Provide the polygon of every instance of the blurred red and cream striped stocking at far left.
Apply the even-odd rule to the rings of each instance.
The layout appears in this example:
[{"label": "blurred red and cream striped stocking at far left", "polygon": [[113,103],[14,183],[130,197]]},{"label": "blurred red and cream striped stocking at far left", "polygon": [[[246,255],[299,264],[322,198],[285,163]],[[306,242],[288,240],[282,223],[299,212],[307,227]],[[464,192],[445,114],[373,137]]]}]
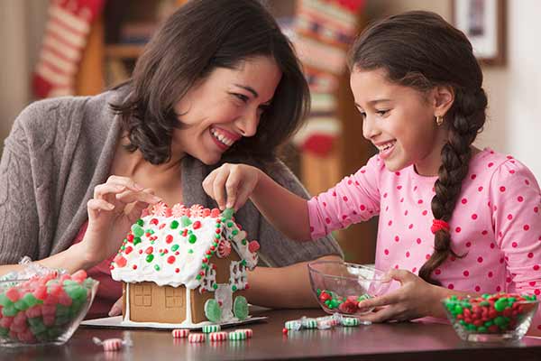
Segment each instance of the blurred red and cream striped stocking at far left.
[{"label": "blurred red and cream striped stocking at far left", "polygon": [[50,0],[49,19],[32,80],[37,97],[74,94],[90,24],[104,4],[105,0]]}]

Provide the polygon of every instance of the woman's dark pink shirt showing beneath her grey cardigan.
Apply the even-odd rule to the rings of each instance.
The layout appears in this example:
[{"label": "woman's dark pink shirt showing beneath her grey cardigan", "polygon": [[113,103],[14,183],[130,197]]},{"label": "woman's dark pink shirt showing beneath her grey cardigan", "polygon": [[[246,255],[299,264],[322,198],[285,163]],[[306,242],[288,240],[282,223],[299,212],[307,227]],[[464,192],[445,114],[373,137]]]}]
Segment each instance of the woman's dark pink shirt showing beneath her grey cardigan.
[{"label": "woman's dark pink shirt showing beneath her grey cardigan", "polygon": [[[75,236],[73,244],[79,243],[83,240],[85,232],[87,232],[88,222],[83,223],[78,235]],[[92,307],[88,310],[87,319],[98,319],[107,317],[107,313],[115,304],[115,301],[122,296],[122,283],[116,282],[111,278],[111,270],[109,265],[113,261],[115,255],[106,259],[100,264],[96,264],[94,267],[87,270],[88,277],[92,277],[96,281],[99,281],[99,287],[97,288],[96,297],[92,303]]]}]

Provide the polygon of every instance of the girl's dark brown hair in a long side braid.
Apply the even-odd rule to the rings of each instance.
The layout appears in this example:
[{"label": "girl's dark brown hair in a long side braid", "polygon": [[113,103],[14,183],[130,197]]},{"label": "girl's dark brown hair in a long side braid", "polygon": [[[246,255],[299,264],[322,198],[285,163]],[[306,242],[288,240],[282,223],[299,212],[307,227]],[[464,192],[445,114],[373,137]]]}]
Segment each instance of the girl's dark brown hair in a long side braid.
[{"label": "girl's dark brown hair in a long side braid", "polygon": [[[472,44],[441,16],[408,12],[390,16],[362,32],[353,44],[349,66],[384,69],[391,82],[423,93],[436,86],[454,89],[454,103],[444,116],[449,133],[432,199],[434,218],[448,222],[468,173],[471,144],[486,116],[487,97],[481,88],[482,72]],[[434,253],[419,270],[419,276],[439,285],[432,272],[449,255],[458,257],[451,248],[451,235],[439,230],[434,238]]]}]

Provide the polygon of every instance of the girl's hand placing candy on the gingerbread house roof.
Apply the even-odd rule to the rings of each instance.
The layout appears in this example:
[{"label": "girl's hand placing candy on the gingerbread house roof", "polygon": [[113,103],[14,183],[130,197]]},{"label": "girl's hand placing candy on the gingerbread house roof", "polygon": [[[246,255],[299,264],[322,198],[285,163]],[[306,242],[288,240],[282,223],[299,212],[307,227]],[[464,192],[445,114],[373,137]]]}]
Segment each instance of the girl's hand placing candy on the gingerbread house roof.
[{"label": "girl's hand placing candy on the gingerbread house roof", "polygon": [[206,194],[218,203],[221,210],[243,207],[260,180],[261,171],[246,164],[225,163],[203,180]]}]

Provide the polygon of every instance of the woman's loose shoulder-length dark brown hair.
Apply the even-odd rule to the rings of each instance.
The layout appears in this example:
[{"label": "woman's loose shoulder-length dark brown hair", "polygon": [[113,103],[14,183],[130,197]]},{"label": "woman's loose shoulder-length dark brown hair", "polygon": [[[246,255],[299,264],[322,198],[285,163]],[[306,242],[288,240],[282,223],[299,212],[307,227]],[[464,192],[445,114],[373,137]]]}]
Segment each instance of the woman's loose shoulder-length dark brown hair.
[{"label": "woman's loose shoulder-length dark brown hair", "polygon": [[309,92],[291,43],[256,0],[191,0],[161,25],[137,60],[129,97],[111,105],[122,116],[127,149],[152,164],[170,160],[172,133],[183,126],[173,109],[179,99],[214,69],[236,69],[257,56],[274,59],[282,78],[257,134],[225,155],[274,159],[306,115]]}]

